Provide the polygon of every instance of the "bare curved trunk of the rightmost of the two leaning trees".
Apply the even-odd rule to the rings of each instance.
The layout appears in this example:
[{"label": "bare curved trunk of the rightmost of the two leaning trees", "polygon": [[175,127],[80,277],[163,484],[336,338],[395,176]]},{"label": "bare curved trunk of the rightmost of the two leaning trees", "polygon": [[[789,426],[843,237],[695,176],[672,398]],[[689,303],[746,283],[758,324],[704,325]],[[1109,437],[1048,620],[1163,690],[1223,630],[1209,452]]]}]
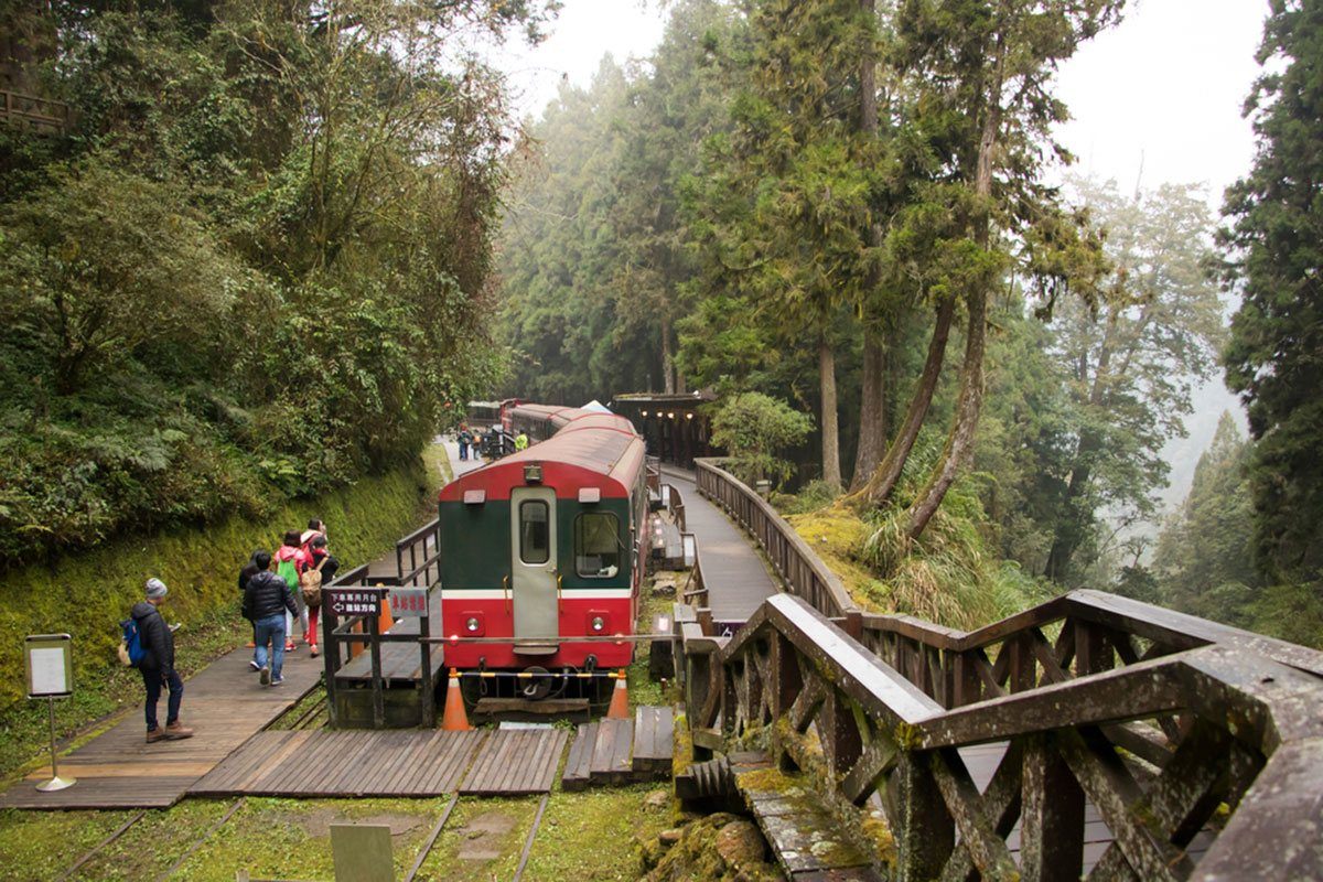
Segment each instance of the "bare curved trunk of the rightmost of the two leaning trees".
[{"label": "bare curved trunk of the rightmost of the two leaning trees", "polygon": [[[983,106],[983,132],[979,136],[979,156],[974,176],[974,192],[986,202],[992,196],[992,155],[996,151],[998,131],[1002,127],[1002,83],[1005,60],[1002,38],[996,42],[995,73],[987,103]],[[980,205],[975,220],[974,241],[987,251],[991,241],[992,218],[986,205]],[[955,405],[955,423],[946,442],[942,459],[927,480],[927,485],[910,506],[909,536],[917,540],[927,522],[933,520],[937,508],[946,499],[955,476],[974,456],[974,432],[979,427],[979,413],[983,409],[983,354],[987,349],[987,311],[991,282],[978,279],[968,296],[970,325],[964,341],[964,365],[960,368],[960,397]]]}]

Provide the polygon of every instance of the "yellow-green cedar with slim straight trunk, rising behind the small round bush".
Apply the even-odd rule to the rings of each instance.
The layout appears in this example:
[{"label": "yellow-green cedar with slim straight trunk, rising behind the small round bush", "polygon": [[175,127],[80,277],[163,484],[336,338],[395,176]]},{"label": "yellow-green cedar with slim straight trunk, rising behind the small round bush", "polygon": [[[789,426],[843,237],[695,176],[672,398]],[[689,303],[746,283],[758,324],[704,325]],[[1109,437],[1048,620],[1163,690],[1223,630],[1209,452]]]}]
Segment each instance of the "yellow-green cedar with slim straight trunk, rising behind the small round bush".
[{"label": "yellow-green cedar with slim straight trunk, rising behind the small round bush", "polygon": [[823,479],[841,483],[836,350],[830,329],[856,305],[868,243],[876,139],[859,114],[859,0],[766,0],[747,7],[751,52],[733,107],[734,132],[716,139],[708,185],[709,245],[790,344],[818,348]]}]

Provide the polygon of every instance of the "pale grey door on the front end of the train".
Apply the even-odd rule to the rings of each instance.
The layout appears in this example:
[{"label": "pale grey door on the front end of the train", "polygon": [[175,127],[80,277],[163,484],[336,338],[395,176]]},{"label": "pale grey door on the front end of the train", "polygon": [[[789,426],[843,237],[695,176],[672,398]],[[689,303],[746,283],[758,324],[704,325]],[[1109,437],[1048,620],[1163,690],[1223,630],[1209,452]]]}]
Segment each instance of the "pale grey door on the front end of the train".
[{"label": "pale grey door on the front end of the train", "polygon": [[556,491],[549,487],[519,487],[511,491],[509,501],[515,651],[524,655],[536,655],[537,651],[553,653],[560,624]]}]

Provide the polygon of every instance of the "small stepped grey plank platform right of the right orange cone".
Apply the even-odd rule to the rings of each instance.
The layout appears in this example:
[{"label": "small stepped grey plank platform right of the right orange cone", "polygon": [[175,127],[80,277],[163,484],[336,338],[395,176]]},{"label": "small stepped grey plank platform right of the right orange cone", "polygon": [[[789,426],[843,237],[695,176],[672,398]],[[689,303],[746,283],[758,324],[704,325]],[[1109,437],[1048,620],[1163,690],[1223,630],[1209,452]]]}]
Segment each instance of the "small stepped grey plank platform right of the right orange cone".
[{"label": "small stepped grey plank platform right of the right orange cone", "polygon": [[669,707],[636,707],[634,719],[583,723],[570,744],[561,789],[664,780],[671,776],[675,714]]}]

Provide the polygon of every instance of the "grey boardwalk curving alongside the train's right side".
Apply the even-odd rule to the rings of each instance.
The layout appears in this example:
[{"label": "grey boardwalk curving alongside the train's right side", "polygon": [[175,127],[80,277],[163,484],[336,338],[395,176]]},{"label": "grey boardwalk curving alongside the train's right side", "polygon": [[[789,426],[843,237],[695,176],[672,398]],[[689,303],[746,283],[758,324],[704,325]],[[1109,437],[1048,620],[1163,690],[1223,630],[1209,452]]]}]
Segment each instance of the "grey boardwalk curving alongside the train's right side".
[{"label": "grey boardwalk curving alongside the train's right side", "polygon": [[685,526],[699,540],[706,606],[712,608],[713,620],[745,621],[765,599],[781,590],[777,579],[744,530],[699,495],[693,472],[663,464],[662,476],[684,497]]}]

